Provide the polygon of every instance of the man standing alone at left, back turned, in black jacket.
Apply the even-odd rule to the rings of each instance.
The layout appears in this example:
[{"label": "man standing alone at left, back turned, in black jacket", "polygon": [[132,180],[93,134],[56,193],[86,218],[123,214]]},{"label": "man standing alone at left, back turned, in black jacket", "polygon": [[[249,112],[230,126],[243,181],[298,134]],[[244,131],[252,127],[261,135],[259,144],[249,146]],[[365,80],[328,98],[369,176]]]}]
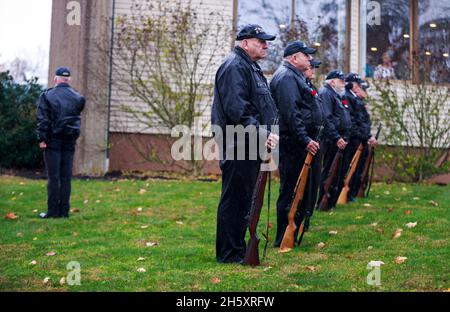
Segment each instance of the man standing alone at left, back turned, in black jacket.
[{"label": "man standing alone at left, back turned, in black jacket", "polygon": [[43,92],[37,104],[37,136],[48,176],[48,212],[39,215],[44,219],[69,217],[72,163],[85,105],[69,81],[70,70],[58,68],[55,87]]}]

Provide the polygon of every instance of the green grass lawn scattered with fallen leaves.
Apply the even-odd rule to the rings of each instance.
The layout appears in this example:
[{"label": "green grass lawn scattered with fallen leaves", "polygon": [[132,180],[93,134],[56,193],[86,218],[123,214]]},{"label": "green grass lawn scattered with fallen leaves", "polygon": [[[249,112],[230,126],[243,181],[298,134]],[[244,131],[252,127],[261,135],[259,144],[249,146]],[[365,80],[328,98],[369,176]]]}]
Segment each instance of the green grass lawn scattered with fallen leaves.
[{"label": "green grass lawn scattered with fallen leaves", "polygon": [[[338,206],[331,213],[315,212],[300,249],[279,254],[271,242],[267,257],[255,268],[215,261],[220,188],[219,182],[75,180],[72,208],[79,212],[69,219],[40,220],[34,210],[46,211],[46,181],[2,176],[0,291],[450,288],[449,187],[375,184],[369,199]],[[273,189],[275,225],[277,183]],[[6,219],[9,212],[18,218]],[[260,232],[266,214],[264,207]],[[406,227],[409,222],[417,226]],[[401,236],[393,239],[399,228]],[[150,247],[147,242],[158,244]],[[325,247],[319,248],[320,242]],[[263,246],[261,240],[261,254]],[[56,254],[47,256],[49,252]],[[398,256],[407,259],[397,264]],[[35,265],[30,264],[33,260]],[[381,286],[366,282],[372,260],[384,262]],[[70,261],[80,263],[80,286],[59,283],[69,273]],[[138,272],[139,268],[146,271]],[[44,284],[46,277],[50,281]]]}]

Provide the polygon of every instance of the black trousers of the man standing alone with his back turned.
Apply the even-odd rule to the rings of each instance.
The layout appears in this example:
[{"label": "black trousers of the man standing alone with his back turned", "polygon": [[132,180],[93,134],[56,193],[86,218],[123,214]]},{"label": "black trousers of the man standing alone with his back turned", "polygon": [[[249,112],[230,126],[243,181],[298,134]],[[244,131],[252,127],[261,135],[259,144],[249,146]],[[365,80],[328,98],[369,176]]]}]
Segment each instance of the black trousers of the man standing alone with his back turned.
[{"label": "black trousers of the man standing alone with his back turned", "polygon": [[68,217],[75,141],[52,139],[44,151],[47,168],[47,215]]}]

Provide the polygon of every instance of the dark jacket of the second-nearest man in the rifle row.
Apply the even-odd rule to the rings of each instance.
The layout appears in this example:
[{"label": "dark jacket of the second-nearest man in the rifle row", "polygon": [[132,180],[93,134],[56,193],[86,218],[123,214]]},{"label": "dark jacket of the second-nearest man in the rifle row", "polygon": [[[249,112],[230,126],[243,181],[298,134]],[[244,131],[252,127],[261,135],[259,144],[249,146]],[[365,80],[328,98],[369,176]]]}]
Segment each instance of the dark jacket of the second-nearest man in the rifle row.
[{"label": "dark jacket of the second-nearest man in the rifle row", "polygon": [[317,90],[289,62],[275,72],[270,89],[280,114],[280,135],[305,148],[316,139],[317,129],[322,125],[323,111]]}]

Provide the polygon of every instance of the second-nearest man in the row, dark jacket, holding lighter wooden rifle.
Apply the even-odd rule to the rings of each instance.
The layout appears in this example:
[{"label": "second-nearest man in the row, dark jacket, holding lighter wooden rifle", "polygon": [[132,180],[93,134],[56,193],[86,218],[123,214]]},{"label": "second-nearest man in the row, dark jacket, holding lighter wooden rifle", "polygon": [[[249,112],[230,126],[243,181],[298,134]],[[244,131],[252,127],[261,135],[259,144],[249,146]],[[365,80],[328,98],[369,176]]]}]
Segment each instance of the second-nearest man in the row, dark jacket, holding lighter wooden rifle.
[{"label": "second-nearest man in the row, dark jacket, holding lighter wooden rifle", "polygon": [[[284,50],[284,63],[275,72],[270,83],[279,112],[280,126],[280,195],[277,201],[277,234],[275,247],[279,247],[288,224],[288,213],[298,176],[308,152],[319,153],[316,141],[318,128],[322,124],[322,110],[315,91],[305,77],[313,71],[310,61],[316,49],[300,41],[290,42]],[[312,213],[317,197],[320,160],[312,163],[313,181],[308,181],[305,196],[298,207],[298,226],[307,211]],[[307,190],[311,189],[312,192]],[[311,208],[311,209],[309,209]]]}]

